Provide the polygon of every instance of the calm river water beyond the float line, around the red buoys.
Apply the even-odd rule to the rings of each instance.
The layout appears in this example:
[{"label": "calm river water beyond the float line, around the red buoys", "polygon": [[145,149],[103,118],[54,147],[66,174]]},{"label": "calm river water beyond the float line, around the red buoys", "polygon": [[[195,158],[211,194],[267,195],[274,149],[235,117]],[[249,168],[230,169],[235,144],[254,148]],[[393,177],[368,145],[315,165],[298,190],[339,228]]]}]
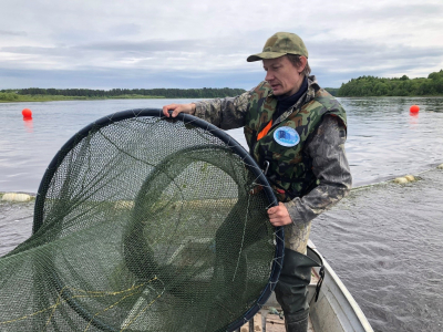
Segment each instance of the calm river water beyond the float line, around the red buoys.
[{"label": "calm river water beyond the float line, around the red buoys", "polygon": [[[59,148],[105,115],[190,100],[105,100],[0,104],[0,191],[37,193]],[[353,185],[418,173],[443,159],[442,97],[340,98],[348,114],[347,155]],[[409,107],[421,111],[410,115]],[[24,122],[22,108],[33,112]],[[229,131],[246,147],[243,129]]]}]

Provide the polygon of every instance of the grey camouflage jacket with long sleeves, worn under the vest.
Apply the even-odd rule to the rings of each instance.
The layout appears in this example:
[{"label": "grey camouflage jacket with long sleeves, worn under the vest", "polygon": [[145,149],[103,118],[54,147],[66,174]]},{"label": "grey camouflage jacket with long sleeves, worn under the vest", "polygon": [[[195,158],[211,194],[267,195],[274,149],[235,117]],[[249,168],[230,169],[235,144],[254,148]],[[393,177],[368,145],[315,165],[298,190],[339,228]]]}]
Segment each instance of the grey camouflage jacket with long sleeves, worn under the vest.
[{"label": "grey camouflage jacket with long sleeves, worn under the vest", "polygon": [[[223,129],[243,127],[247,125],[248,105],[254,98],[255,90],[236,97],[197,102],[195,115]],[[272,127],[287,120],[293,110],[312,102],[319,90],[315,76],[310,76],[307,92],[296,105],[277,118]],[[311,158],[312,173],[318,185],[302,197],[295,197],[289,201],[284,199],[295,224],[309,222],[350,190],[351,175],[344,154],[344,142],[346,125],[338,117],[332,116],[324,116],[313,135],[307,137],[303,151]],[[271,176],[272,174],[268,174],[268,177]]]}]

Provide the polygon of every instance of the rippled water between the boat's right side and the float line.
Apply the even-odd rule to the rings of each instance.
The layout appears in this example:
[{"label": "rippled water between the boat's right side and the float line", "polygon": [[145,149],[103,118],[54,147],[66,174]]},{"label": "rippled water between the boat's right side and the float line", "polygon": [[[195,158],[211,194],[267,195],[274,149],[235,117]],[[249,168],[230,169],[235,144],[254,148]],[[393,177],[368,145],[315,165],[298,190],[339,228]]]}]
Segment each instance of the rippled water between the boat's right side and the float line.
[{"label": "rippled water between the boat's right side and the float line", "polygon": [[356,190],[313,220],[312,240],[375,331],[442,331],[443,172],[421,177]]}]

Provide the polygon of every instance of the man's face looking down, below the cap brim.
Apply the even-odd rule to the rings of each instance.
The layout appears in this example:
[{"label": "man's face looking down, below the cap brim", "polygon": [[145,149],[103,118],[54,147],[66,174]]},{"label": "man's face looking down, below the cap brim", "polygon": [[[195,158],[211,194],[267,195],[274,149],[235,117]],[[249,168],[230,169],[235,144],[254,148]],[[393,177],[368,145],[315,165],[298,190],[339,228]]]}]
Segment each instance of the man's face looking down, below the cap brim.
[{"label": "man's face looking down, below the cap brim", "polygon": [[297,69],[286,55],[264,59],[262,64],[265,80],[272,87],[274,95],[292,95],[300,89],[303,82],[303,76],[299,74],[301,69]]}]

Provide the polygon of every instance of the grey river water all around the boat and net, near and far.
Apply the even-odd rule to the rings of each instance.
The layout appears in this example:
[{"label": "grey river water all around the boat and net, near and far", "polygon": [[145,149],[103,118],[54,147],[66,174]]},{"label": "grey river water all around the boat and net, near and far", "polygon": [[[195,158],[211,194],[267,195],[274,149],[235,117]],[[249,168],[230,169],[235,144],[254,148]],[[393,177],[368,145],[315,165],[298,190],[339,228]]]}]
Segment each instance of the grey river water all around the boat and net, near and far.
[{"label": "grey river water all around the boat and net, near and far", "polygon": [[[0,104],[0,191],[35,193],[58,149],[89,123],[114,112],[172,102],[189,101]],[[443,163],[443,97],[340,102],[348,113],[346,149],[354,187],[416,175]],[[416,115],[409,112],[413,104],[421,107]],[[32,121],[22,121],[24,107],[32,110]],[[246,147],[241,129],[229,134]],[[404,190],[357,190],[313,221],[313,241],[375,331],[443,331],[443,190],[429,189],[439,176],[423,173],[416,187]],[[32,204],[1,205],[0,256],[23,241],[32,224]],[[349,272],[351,267],[357,273]]]}]

